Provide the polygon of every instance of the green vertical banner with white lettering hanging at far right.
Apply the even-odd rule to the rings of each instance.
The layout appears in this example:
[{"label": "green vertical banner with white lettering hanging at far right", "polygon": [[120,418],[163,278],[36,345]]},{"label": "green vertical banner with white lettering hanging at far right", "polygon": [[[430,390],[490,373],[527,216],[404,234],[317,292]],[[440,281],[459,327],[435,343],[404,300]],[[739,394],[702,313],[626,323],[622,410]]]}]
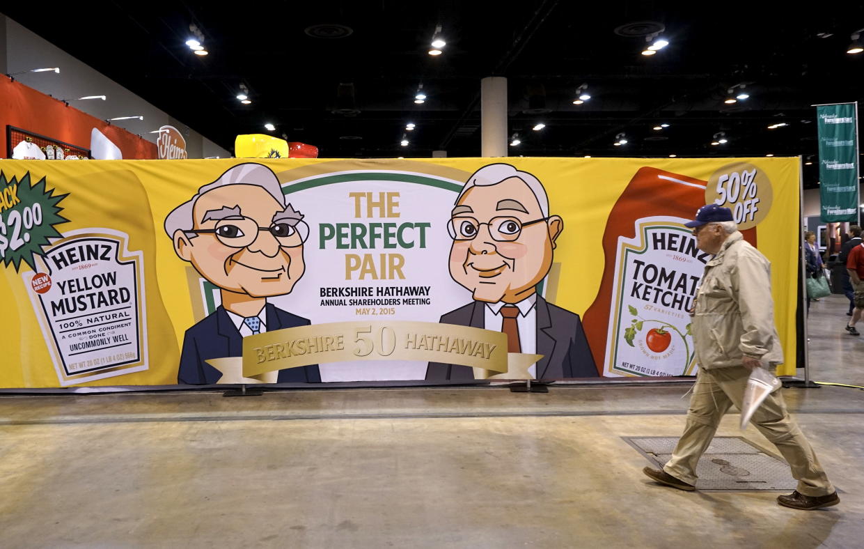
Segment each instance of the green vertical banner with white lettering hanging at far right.
[{"label": "green vertical banner with white lettering hanging at far right", "polygon": [[857,106],[816,105],[820,216],[826,223],[858,221]]}]

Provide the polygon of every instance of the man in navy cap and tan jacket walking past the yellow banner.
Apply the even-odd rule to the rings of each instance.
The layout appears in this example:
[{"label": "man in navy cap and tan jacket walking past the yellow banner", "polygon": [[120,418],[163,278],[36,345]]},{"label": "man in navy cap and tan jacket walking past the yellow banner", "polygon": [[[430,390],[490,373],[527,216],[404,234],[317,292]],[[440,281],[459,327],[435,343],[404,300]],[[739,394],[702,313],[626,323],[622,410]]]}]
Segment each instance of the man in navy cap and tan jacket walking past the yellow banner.
[{"label": "man in navy cap and tan jacket walking past the yellow banner", "polygon": [[[771,265],[742,239],[732,211],[708,204],[686,226],[693,228],[696,246],[715,256],[705,265],[693,311],[699,372],[687,425],[669,463],[644,472],[661,484],[692,491],[696,463],[723,415],[732,405],[740,409],[750,371],[763,364],[773,371],[783,362],[783,350],[774,327]],[[777,498],[780,505],[816,509],[840,502],[810,443],[786,412],[781,393],[768,395],[752,421],[777,446],[798,481],[791,495]]]}]

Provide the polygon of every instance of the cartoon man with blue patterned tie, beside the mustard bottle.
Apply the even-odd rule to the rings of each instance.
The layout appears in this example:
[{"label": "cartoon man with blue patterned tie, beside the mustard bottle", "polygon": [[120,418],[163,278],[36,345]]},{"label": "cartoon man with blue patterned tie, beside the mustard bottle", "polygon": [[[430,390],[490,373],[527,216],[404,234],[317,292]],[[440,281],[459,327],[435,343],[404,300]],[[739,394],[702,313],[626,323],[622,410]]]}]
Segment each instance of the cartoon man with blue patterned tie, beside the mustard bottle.
[{"label": "cartoon man with blue patterned tie, beside the mustard bottle", "polygon": [[[309,228],[269,168],[243,163],[198,189],[165,218],[180,259],[221,290],[222,304],[183,339],[178,383],[216,383],[209,359],[242,356],[243,338],[309,323],[267,297],[289,294],[303,276]],[[318,367],[280,370],[276,381],[320,382]]]}]

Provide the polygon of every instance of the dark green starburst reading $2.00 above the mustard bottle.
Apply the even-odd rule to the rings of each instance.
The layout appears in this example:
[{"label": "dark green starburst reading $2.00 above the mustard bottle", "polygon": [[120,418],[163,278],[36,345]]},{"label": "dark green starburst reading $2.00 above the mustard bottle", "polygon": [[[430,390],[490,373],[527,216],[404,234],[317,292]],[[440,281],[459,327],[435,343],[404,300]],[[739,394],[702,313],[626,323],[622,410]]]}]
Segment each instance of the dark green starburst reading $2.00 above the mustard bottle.
[{"label": "dark green starburst reading $2.00 above the mustard bottle", "polygon": [[3,266],[11,264],[20,271],[25,263],[35,271],[34,256],[44,255],[42,247],[50,244],[49,239],[62,236],[54,226],[69,221],[60,215],[63,208],[58,206],[67,195],[54,195],[54,188],[47,188],[44,177],[31,185],[30,172],[21,179],[7,179],[0,172],[0,193],[7,198],[0,206]]}]

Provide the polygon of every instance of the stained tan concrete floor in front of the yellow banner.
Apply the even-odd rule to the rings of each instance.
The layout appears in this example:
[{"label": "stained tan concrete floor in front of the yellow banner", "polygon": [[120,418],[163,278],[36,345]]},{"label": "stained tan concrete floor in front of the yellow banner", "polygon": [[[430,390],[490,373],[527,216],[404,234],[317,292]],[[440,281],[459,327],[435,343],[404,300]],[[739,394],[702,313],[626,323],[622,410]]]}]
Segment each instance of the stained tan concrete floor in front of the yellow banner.
[{"label": "stained tan concrete floor in front of the yellow banner", "polygon": [[[813,377],[861,383],[864,337],[842,333],[832,299],[810,312]],[[685,493],[642,475],[622,437],[677,437],[688,389],[7,395],[0,546],[864,545],[864,392],[784,390],[841,490],[839,506],[804,512],[778,492]],[[774,451],[738,419],[718,435]]]}]

